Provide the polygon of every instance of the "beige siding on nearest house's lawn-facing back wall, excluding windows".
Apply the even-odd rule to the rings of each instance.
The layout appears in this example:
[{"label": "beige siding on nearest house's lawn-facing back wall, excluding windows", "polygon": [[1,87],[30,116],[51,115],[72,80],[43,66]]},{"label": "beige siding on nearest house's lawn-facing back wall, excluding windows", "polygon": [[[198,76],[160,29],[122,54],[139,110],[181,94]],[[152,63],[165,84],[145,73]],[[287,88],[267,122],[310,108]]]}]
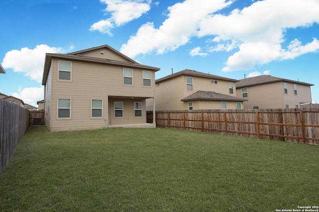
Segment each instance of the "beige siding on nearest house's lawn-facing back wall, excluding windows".
[{"label": "beige siding on nearest house's lawn-facing back wall, excluding windows", "polygon": [[[102,128],[109,124],[120,123],[146,123],[146,115],[143,118],[134,118],[134,105],[132,103],[131,113],[129,116],[121,120],[113,121],[113,111],[109,108],[109,97],[125,97],[132,101],[136,99],[143,100],[143,112],[146,110],[145,99],[155,96],[155,72],[152,73],[152,86],[143,87],[143,70],[133,69],[133,86],[123,85],[123,67],[121,66],[106,66],[105,64],[87,63],[82,61],[72,62],[72,81],[59,81],[58,72],[53,72],[52,75],[52,112],[51,112],[51,131],[58,130],[73,130],[73,129],[90,129]],[[53,69],[57,70],[58,59],[52,62]],[[130,67],[128,67],[130,68]],[[71,99],[71,118],[57,118],[57,99]],[[91,117],[91,100],[103,100],[103,118]],[[125,100],[126,103],[129,100]],[[123,102],[123,101],[122,101]],[[137,102],[137,101],[135,101]],[[142,101],[139,101],[142,102]],[[126,106],[126,105],[125,105]],[[128,109],[126,109],[128,111]],[[110,123],[111,122],[111,123]],[[70,127],[71,126],[71,127]]]}]

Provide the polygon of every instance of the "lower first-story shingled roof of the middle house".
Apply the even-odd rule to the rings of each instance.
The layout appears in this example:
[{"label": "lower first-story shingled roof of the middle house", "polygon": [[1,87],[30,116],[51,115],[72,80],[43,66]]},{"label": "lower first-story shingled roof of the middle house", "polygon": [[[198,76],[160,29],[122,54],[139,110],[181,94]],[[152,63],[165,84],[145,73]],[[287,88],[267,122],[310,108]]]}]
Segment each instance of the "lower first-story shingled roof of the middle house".
[{"label": "lower first-story shingled roof of the middle house", "polygon": [[181,99],[180,101],[194,101],[194,100],[214,100],[214,101],[236,101],[236,102],[246,102],[248,100],[244,100],[237,97],[228,96],[225,94],[219,94],[211,91],[196,91],[195,93]]}]

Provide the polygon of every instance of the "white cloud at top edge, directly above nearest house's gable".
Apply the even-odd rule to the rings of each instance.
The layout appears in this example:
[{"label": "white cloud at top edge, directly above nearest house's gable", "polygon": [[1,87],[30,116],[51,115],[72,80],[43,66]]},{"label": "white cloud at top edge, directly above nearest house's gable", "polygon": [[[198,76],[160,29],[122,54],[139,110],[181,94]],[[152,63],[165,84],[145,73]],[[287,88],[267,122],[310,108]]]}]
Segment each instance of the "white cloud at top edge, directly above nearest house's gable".
[{"label": "white cloud at top edge, directly above nearest house's gable", "polygon": [[100,0],[107,4],[105,11],[111,17],[100,20],[91,25],[90,31],[98,30],[101,33],[112,35],[111,29],[121,26],[141,17],[151,9],[152,0]]}]

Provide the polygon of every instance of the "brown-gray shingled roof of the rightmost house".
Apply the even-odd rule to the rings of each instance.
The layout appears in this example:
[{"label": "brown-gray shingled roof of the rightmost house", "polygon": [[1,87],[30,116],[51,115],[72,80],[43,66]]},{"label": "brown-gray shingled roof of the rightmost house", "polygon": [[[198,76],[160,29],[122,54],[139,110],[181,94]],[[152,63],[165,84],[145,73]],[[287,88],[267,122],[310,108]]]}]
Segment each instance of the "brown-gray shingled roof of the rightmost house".
[{"label": "brown-gray shingled roof of the rightmost house", "polygon": [[250,78],[239,80],[239,82],[236,83],[236,88],[243,88],[247,86],[256,86],[256,85],[275,83],[275,82],[291,82],[291,83],[303,84],[307,86],[314,85],[314,84],[303,83],[303,82],[294,81],[294,80],[287,80],[287,79],[283,79],[279,77],[272,77],[270,75],[261,75],[257,77],[250,77]]}]

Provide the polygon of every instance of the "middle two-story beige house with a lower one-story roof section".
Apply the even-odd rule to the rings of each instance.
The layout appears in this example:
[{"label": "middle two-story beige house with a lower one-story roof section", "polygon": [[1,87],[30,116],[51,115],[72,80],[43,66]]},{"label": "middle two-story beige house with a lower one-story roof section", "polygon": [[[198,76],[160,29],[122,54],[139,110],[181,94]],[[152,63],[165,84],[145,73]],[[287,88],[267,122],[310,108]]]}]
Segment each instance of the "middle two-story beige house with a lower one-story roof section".
[{"label": "middle two-story beige house with a lower one-story roof section", "polygon": [[236,97],[237,82],[185,69],[156,80],[156,109],[240,109],[247,100]]}]

